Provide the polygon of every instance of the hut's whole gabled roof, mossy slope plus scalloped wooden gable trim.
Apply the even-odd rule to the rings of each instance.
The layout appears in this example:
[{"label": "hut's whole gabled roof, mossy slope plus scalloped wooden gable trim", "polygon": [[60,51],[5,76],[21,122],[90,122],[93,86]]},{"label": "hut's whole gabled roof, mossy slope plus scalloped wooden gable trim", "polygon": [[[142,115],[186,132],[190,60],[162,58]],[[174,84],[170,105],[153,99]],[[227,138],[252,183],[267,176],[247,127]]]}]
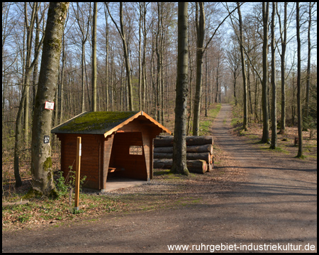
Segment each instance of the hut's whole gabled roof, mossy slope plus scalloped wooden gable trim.
[{"label": "hut's whole gabled roof, mossy slope plus scalloped wooden gable trim", "polygon": [[67,120],[65,123],[57,125],[55,128],[52,128],[51,132],[55,134],[99,134],[106,136],[115,132],[118,128],[122,128],[123,125],[128,124],[140,115],[143,115],[151,123],[157,125],[158,128],[162,128],[164,132],[171,134],[171,131],[164,128],[164,126],[142,111],[85,112]]}]

